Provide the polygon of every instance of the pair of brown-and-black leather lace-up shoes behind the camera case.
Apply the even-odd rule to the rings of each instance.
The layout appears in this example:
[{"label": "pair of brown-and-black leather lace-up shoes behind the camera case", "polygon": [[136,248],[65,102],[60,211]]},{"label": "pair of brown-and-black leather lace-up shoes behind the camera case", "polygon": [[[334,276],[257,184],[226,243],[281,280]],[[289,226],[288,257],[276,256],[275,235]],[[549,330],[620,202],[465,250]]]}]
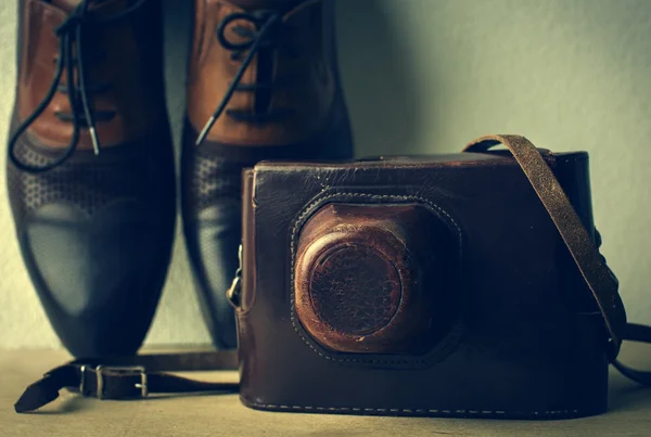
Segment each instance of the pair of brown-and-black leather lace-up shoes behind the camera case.
[{"label": "pair of brown-and-black leather lace-up shoes behind the camera case", "polygon": [[[180,197],[214,343],[237,346],[241,170],[344,159],[332,0],[195,0]],[[8,188],[23,260],[76,357],[135,354],[176,226],[159,0],[20,0]]]}]

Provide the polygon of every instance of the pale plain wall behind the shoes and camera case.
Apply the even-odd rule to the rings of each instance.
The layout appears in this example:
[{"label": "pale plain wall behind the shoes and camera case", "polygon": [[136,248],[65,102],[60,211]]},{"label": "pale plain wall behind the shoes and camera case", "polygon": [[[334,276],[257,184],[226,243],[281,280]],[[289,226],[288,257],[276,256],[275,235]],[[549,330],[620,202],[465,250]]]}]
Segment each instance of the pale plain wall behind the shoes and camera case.
[{"label": "pale plain wall behind the shoes and camera case", "polygon": [[[166,3],[178,138],[189,0]],[[603,253],[629,319],[651,323],[651,0],[340,0],[337,14],[360,155],[455,152],[496,132],[554,151],[587,150]],[[3,1],[4,120],[13,101],[14,26],[15,0]],[[0,347],[55,346],[18,255],[1,156]],[[148,342],[207,340],[179,237]]]}]

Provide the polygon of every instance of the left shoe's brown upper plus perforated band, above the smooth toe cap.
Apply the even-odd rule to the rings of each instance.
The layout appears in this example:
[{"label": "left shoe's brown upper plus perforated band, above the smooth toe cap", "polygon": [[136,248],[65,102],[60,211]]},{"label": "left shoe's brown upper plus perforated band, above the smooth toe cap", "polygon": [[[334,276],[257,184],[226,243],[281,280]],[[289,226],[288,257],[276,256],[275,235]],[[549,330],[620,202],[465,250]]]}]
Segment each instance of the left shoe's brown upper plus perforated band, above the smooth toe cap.
[{"label": "left shoe's brown upper plus perforated band, above the smooth toe cap", "polygon": [[[17,31],[18,80],[10,132],[17,131],[25,116],[29,115],[26,112],[34,111],[52,82],[53,56],[59,50],[54,27],[78,3],[78,0],[61,0],[56,2],[61,5],[59,8],[42,0],[21,0]],[[91,11],[114,14],[125,8],[125,4],[127,2],[123,0],[107,0],[100,5],[91,4]],[[62,9],[64,7],[65,10]],[[103,149],[99,156],[92,152],[88,129],[81,129],[76,152],[56,168],[35,175],[13,165],[8,166],[9,198],[18,232],[30,214],[51,203],[72,203],[92,215],[124,198],[136,197],[141,198],[141,202],[155,198],[158,202],[162,196],[166,196],[168,198],[164,203],[174,202],[169,198],[175,195],[174,150],[165,106],[161,14],[161,4],[151,0],[115,23],[98,26],[103,43],[110,44],[112,38],[115,40],[114,46],[106,46],[105,51],[101,49],[104,46],[97,49],[86,46],[91,53],[87,59],[88,66],[91,67],[88,73],[90,80],[95,77],[94,67],[104,65],[104,61],[98,63],[98,59],[91,62],[92,56],[104,57],[106,61],[116,53],[130,53],[132,50],[141,50],[142,53],[131,64],[124,64],[125,61],[122,60],[100,68],[102,72],[106,70],[102,73],[104,76],[122,77],[125,86],[112,82],[105,93],[91,94],[93,108],[111,107],[116,113],[112,121],[99,121],[97,125]],[[120,28],[124,31],[113,34],[113,30]],[[137,38],[124,40],[127,35]],[[120,49],[119,41],[129,48]],[[65,83],[65,75],[62,76],[62,82]],[[104,100],[113,103],[102,106],[101,102]],[[43,166],[60,156],[62,147],[68,146],[73,123],[60,120],[54,115],[58,111],[71,112],[68,97],[64,93],[56,93],[46,112],[17,138],[15,153],[18,160],[31,166]],[[125,129],[118,126],[123,121]],[[145,125],[146,129],[142,130]]]}]

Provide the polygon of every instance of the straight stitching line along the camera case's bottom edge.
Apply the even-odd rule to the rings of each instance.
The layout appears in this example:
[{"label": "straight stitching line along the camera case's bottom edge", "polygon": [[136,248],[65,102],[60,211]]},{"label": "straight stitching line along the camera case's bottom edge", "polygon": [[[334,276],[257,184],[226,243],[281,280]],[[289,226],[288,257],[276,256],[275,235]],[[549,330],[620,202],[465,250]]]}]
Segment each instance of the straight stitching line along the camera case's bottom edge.
[{"label": "straight stitching line along the camera case's bottom edge", "polygon": [[367,413],[406,413],[406,414],[441,414],[441,415],[565,415],[578,414],[579,410],[544,410],[544,411],[506,411],[506,410],[451,410],[451,409],[409,409],[409,408],[357,408],[357,407],[310,407],[310,406],[285,406],[282,403],[259,403],[240,397],[246,406],[275,409],[275,410],[298,410],[298,411],[332,411],[332,412],[367,412]]}]

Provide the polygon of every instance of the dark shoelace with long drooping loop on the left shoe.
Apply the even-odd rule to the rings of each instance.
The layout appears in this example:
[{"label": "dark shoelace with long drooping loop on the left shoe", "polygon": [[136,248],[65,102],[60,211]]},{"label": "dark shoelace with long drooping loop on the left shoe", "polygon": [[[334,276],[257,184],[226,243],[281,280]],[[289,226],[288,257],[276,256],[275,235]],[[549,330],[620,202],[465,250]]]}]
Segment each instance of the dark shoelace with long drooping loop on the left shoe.
[{"label": "dark shoelace with long drooping loop on the left shoe", "polygon": [[[88,128],[94,154],[98,155],[100,153],[100,141],[95,130],[95,120],[110,120],[115,114],[111,112],[95,112],[91,108],[90,94],[107,90],[110,83],[95,86],[88,83],[86,77],[87,54],[85,53],[84,34],[87,26],[98,26],[120,20],[142,7],[148,0],[136,0],[132,5],[124,11],[102,17],[91,16],[89,13],[89,7],[92,1],[93,0],[82,0],[65,22],[55,29],[56,37],[59,38],[59,55],[55,60],[56,70],[52,83],[34,113],[21,124],[9,140],[9,157],[13,165],[21,170],[28,172],[43,172],[63,164],[73,155],[73,153],[75,153],[77,144],[79,143],[79,134],[82,125]],[[73,51],[75,52],[75,56],[73,55]],[[61,83],[64,69],[66,70],[65,86]],[[77,83],[75,83],[75,70],[77,70]],[[29,126],[41,116],[48,105],[52,102],[52,99],[54,99],[56,92],[66,93],[71,103],[72,111],[69,114],[56,114],[60,119],[73,123],[74,129],[71,142],[59,157],[43,166],[31,166],[23,163],[16,156],[15,149],[17,141]],[[81,107],[79,108],[79,106]],[[81,110],[82,115],[79,110]]]}]

